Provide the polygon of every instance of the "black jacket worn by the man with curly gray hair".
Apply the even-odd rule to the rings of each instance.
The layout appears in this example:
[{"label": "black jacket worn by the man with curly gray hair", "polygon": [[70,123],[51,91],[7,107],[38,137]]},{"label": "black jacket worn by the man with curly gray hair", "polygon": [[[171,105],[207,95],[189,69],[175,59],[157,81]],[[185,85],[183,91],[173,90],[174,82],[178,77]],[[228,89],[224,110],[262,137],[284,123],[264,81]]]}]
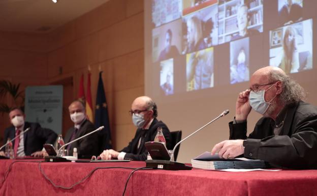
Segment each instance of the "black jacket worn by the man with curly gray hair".
[{"label": "black jacket worn by the man with curly gray hair", "polygon": [[279,135],[274,135],[274,120],[262,117],[246,137],[246,122],[232,124],[230,139],[243,142],[244,156],[261,159],[274,166],[291,169],[317,168],[317,107],[305,102],[286,106],[286,118]]}]

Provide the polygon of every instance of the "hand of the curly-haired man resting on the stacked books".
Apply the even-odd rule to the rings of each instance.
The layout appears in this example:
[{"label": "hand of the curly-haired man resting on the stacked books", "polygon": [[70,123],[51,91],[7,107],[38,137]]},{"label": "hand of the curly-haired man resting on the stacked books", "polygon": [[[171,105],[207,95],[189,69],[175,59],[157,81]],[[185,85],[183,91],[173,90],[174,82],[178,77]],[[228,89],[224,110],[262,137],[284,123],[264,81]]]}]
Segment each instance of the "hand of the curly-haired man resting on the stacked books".
[{"label": "hand of the curly-haired man resting on the stacked books", "polygon": [[244,153],[243,139],[225,140],[216,144],[212,150],[211,155],[218,152],[220,158],[231,159]]}]

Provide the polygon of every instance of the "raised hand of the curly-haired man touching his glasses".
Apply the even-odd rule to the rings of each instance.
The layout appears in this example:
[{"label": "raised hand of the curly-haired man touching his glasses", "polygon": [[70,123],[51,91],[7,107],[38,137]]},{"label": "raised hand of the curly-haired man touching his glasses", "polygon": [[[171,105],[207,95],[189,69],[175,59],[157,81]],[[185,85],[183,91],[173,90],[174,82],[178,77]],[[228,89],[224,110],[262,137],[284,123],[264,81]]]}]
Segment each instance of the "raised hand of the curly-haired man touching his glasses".
[{"label": "raised hand of the curly-haired man touching his glasses", "polygon": [[239,93],[237,102],[236,102],[236,120],[244,121],[247,119],[252,107],[249,103],[249,94],[250,90],[245,90]]}]

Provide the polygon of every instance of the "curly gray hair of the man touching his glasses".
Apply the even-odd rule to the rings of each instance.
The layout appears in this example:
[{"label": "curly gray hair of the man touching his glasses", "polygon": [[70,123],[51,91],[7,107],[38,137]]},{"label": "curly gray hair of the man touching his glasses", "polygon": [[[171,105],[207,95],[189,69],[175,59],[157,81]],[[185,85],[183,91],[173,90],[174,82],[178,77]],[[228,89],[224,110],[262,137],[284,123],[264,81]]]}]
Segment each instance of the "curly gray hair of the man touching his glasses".
[{"label": "curly gray hair of the man touching his glasses", "polygon": [[306,98],[305,90],[290,76],[277,70],[269,72],[269,82],[281,81],[283,91],[279,95],[279,100],[284,105],[291,105],[298,103]]}]

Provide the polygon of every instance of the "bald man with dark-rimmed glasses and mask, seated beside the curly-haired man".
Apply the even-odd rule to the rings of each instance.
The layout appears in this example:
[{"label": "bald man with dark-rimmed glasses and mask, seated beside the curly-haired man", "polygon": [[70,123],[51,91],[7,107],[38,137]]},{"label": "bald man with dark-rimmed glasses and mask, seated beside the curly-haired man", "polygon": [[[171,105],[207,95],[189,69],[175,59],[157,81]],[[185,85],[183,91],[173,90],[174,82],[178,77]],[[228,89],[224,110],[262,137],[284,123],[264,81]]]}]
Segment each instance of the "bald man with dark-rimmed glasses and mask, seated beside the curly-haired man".
[{"label": "bald man with dark-rimmed glasses and mask, seated beside the curly-haired man", "polygon": [[147,150],[144,144],[149,141],[154,141],[158,127],[162,127],[163,129],[167,149],[172,148],[171,133],[162,121],[156,119],[157,107],[151,98],[146,96],[136,98],[132,103],[129,113],[132,116],[134,125],[138,127],[134,138],[129,145],[120,152],[113,149],[104,150],[103,153],[100,154],[103,160],[112,158],[119,160],[146,160]]}]

